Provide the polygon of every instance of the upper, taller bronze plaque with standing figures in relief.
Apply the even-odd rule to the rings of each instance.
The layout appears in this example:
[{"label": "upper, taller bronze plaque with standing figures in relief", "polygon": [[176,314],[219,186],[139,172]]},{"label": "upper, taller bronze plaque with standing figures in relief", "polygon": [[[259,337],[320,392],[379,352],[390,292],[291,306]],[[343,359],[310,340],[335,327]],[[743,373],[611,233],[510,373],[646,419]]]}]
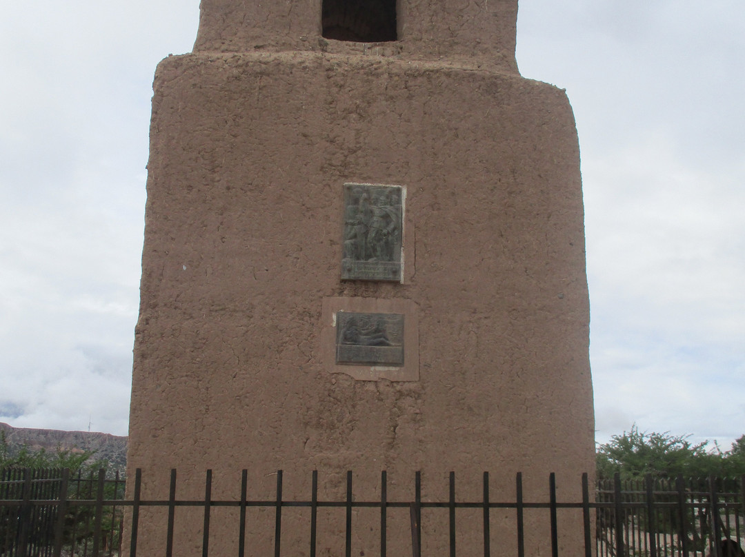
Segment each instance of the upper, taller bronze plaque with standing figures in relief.
[{"label": "upper, taller bronze plaque with standing figures in relief", "polygon": [[341,278],[400,282],[402,232],[400,185],[344,184]]}]

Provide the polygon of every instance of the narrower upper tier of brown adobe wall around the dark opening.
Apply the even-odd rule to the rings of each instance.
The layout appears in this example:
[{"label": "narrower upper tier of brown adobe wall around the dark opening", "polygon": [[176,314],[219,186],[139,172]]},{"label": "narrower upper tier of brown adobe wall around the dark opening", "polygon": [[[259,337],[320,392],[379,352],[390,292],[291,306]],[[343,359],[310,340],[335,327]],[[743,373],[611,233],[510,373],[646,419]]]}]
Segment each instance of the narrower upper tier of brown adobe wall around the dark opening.
[{"label": "narrower upper tier of brown adobe wall around the dark opening", "polygon": [[[321,4],[202,0],[194,52],[353,50],[320,36]],[[516,22],[516,0],[398,0],[399,40],[383,48],[410,60],[468,60],[516,73]]]}]

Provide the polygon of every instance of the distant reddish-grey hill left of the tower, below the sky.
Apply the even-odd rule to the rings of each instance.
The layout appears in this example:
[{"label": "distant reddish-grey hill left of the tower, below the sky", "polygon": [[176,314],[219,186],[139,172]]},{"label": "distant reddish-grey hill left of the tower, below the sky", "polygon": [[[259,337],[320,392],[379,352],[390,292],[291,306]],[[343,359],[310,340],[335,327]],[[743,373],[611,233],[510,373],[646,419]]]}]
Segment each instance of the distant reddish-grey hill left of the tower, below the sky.
[{"label": "distant reddish-grey hill left of the tower, below the sky", "polygon": [[112,468],[124,471],[127,465],[127,437],[110,435],[110,433],[93,433],[87,431],[37,430],[31,427],[10,427],[0,422],[0,431],[11,451],[27,445],[32,451],[45,449],[57,451],[90,451],[96,460],[107,460]]}]

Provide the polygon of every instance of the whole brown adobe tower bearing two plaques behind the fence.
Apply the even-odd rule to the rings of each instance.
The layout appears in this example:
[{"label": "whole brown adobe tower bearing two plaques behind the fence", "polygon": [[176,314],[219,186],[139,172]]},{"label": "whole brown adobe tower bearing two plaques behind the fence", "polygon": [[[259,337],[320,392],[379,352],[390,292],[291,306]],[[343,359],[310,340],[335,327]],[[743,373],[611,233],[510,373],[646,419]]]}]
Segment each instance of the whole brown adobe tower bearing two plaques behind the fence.
[{"label": "whole brown adobe tower bearing two plaques behind the fence", "polygon": [[[425,498],[446,500],[455,471],[479,500],[490,471],[507,500],[522,471],[526,500],[547,500],[555,471],[577,500],[594,469],[580,156],[565,93],[519,74],[517,0],[200,10],[194,51],[154,82],[128,455],[142,498],[168,497],[170,468],[180,498],[208,468],[214,499],[238,496],[242,468],[272,497],[281,468],[288,500],[313,470],[326,499],[352,470],[375,500],[387,470],[390,500],[413,497],[415,471]],[[211,552],[235,554],[220,512]],[[142,554],[163,554],[157,516]],[[201,516],[177,515],[179,555],[200,554]],[[512,515],[494,516],[513,554]],[[401,520],[390,555],[410,554]],[[422,543],[444,554],[431,520]],[[319,555],[343,554],[329,528]],[[378,554],[377,532],[355,536]]]}]

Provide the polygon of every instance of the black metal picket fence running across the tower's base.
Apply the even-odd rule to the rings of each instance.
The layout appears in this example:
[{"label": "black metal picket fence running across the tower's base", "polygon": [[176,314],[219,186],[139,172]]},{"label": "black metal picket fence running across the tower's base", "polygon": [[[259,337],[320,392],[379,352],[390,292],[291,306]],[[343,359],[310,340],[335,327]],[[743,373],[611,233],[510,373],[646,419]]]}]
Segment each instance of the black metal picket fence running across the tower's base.
[{"label": "black metal picket fence running across the tower's base", "polygon": [[[210,518],[214,509],[232,508],[236,512],[235,529],[238,532],[235,555],[248,555],[247,539],[251,526],[247,523],[247,510],[263,508],[273,510],[273,554],[282,555],[282,515],[292,507],[305,507],[310,511],[307,524],[307,551],[315,557],[319,533],[320,509],[336,508],[345,517],[344,554],[352,555],[353,509],[374,509],[380,532],[379,555],[386,557],[389,541],[389,509],[408,509],[410,525],[410,551],[413,557],[422,554],[422,509],[443,509],[448,514],[448,536],[443,553],[457,555],[457,521],[464,509],[477,512],[481,530],[483,555],[492,555],[494,535],[492,514],[508,512],[513,517],[515,531],[510,542],[515,555],[526,555],[526,512],[544,509],[548,512],[547,529],[550,536],[551,555],[559,556],[559,520],[561,513],[581,515],[581,532],[573,532],[583,541],[585,557],[745,557],[741,547],[745,536],[745,477],[735,480],[653,480],[622,482],[600,480],[590,489],[588,476],[581,480],[581,499],[557,500],[554,474],[548,481],[548,500],[535,502],[523,497],[522,474],[515,480],[515,496],[510,500],[493,501],[490,497],[489,474],[484,472],[483,495],[477,501],[461,501],[456,497],[455,475],[450,474],[447,500],[422,500],[421,475],[414,477],[413,500],[395,501],[387,497],[387,474],[381,473],[380,498],[361,501],[352,497],[352,472],[346,474],[346,497],[343,500],[319,500],[318,474],[311,480],[309,500],[284,500],[282,498],[282,471],[276,474],[275,496],[267,500],[247,498],[247,471],[243,471],[240,497],[231,500],[213,500],[212,471],[206,472],[204,495],[197,499],[179,500],[176,491],[176,471],[171,471],[167,500],[143,500],[142,473],[136,471],[133,497],[124,499],[124,480],[118,476],[107,479],[101,471],[96,477],[70,477],[67,471],[11,470],[0,472],[0,557],[115,556],[124,543],[131,557],[137,556],[139,529],[142,526],[141,510],[149,507],[165,508],[165,556],[174,554],[174,522],[178,507],[201,509],[201,550],[209,556]],[[236,489],[236,494],[238,489]],[[122,540],[123,509],[130,509],[130,528],[127,539]],[[568,509],[574,509],[569,511]],[[461,515],[462,516],[462,515]],[[363,525],[354,524],[355,528]],[[463,527],[463,526],[461,526]],[[546,544],[548,545],[548,538]],[[503,548],[504,549],[504,548]],[[571,557],[574,557],[571,556]]]}]

